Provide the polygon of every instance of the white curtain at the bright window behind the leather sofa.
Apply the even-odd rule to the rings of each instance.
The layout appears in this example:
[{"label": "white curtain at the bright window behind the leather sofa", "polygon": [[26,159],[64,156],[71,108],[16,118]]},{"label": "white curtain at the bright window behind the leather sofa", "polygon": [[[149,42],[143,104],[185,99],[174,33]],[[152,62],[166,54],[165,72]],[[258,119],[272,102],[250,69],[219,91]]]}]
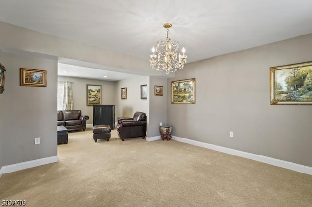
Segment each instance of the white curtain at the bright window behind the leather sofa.
[{"label": "white curtain at the bright window behind the leather sofa", "polygon": [[58,110],[74,109],[72,84],[70,81],[58,81]]}]

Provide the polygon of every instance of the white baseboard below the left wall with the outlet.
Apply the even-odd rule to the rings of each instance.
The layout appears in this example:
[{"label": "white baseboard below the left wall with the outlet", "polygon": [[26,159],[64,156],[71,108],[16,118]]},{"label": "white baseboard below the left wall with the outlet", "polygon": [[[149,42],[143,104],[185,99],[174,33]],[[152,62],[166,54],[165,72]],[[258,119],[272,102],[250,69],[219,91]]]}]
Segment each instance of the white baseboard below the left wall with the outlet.
[{"label": "white baseboard below the left wall with the outlet", "polygon": [[27,161],[27,162],[20,162],[20,163],[16,163],[16,164],[12,164],[12,165],[2,166],[0,173],[1,172],[3,174],[12,173],[15,171],[24,170],[27,168],[33,168],[36,166],[50,164],[50,163],[58,162],[58,161],[59,161],[58,156],[51,156],[51,157],[31,160],[31,161]]}]

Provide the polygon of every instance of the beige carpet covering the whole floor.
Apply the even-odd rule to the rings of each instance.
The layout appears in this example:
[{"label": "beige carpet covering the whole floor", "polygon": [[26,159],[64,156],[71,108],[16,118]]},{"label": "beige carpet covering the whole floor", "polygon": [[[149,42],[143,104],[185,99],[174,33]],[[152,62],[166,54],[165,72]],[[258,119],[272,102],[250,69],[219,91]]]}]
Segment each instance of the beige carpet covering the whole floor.
[{"label": "beige carpet covering the whole floor", "polygon": [[69,134],[59,162],[3,174],[29,207],[312,207],[312,176],[174,140]]}]

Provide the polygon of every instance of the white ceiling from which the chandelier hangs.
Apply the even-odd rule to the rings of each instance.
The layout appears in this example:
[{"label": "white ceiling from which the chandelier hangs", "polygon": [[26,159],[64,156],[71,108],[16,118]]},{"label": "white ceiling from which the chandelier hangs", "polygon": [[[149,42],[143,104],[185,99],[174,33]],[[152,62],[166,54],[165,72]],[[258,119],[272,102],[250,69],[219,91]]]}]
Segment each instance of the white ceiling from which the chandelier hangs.
[{"label": "white ceiling from which the chandelier hangs", "polygon": [[146,61],[170,22],[188,63],[312,33],[311,11],[312,0],[0,0],[0,21]]}]

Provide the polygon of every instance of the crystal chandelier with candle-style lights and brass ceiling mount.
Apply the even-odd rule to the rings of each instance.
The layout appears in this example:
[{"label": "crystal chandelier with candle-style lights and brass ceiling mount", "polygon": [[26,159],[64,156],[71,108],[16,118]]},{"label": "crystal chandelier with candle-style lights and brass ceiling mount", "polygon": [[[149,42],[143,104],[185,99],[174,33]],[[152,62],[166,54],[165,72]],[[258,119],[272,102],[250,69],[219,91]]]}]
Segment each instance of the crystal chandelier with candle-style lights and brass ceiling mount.
[{"label": "crystal chandelier with candle-style lights and brass ceiling mount", "polygon": [[179,42],[171,41],[171,39],[168,37],[169,28],[171,26],[172,25],[170,23],[164,24],[164,28],[167,28],[166,42],[159,40],[156,46],[156,52],[158,52],[158,54],[155,54],[155,48],[153,46],[153,54],[150,55],[150,66],[158,71],[165,70],[167,74],[169,72],[176,72],[176,70],[183,69],[184,64],[187,62],[185,49],[182,48],[182,55],[181,53],[177,55]]}]

